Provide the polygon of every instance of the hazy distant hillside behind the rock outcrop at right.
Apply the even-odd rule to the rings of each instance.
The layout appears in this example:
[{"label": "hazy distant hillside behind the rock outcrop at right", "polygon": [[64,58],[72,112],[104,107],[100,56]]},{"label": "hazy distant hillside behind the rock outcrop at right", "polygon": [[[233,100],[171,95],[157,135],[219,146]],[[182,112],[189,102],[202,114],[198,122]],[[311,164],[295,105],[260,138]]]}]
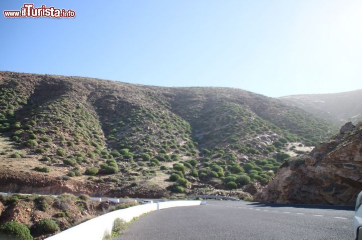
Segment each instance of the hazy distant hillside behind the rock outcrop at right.
[{"label": "hazy distant hillside behind the rock outcrop at right", "polygon": [[362,120],[362,89],[344,93],[292,95],[279,99],[338,126]]}]

